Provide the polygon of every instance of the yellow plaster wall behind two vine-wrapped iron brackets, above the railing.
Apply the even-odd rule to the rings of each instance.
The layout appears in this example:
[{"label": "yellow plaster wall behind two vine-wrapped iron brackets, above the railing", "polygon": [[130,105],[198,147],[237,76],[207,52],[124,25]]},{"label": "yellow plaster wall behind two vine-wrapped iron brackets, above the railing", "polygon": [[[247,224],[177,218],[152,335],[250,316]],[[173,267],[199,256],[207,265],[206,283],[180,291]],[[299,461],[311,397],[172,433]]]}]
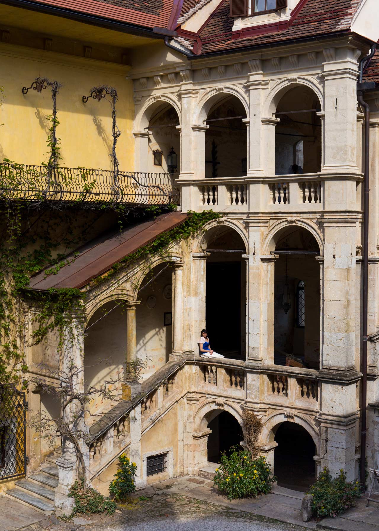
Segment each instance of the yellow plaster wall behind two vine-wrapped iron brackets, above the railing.
[{"label": "yellow plaster wall behind two vine-wrapped iron brackets, above the railing", "polygon": [[0,85],[4,105],[0,115],[0,160],[23,164],[47,161],[46,140],[51,114],[51,91],[38,94],[30,87],[36,76],[63,83],[57,97],[57,136],[61,139],[62,166],[112,169],[111,108],[107,101],[89,100],[92,87],[107,84],[118,92],[117,124],[122,132],[117,143],[120,170],[134,169],[133,86],[126,75],[130,67],[84,57],[35,50],[0,43]]}]

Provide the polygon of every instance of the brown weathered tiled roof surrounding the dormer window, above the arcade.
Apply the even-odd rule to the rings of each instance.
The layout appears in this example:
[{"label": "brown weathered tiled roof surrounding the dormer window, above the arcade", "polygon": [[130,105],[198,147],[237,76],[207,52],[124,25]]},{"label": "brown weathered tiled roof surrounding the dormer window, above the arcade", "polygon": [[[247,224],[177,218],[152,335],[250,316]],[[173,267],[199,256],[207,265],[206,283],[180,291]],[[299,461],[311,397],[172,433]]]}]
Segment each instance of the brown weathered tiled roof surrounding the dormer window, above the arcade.
[{"label": "brown weathered tiled roof surrounding the dormer window, above the arcade", "polygon": [[244,29],[238,34],[232,32],[234,19],[230,16],[229,0],[224,0],[200,32],[201,48],[197,53],[203,55],[346,31],[360,3],[361,0],[300,0],[288,24]]}]

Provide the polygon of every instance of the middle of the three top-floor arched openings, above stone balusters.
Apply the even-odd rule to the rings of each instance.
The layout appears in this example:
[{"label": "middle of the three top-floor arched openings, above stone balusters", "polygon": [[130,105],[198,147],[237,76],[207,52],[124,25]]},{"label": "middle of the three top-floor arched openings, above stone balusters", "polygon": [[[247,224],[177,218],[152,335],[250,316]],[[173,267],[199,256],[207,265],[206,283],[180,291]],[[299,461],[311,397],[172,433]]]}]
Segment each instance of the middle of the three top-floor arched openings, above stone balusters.
[{"label": "middle of the three top-floor arched openings, above stone balusters", "polygon": [[205,122],[209,127],[205,132],[205,177],[244,176],[247,172],[245,107],[230,94],[215,99]]}]

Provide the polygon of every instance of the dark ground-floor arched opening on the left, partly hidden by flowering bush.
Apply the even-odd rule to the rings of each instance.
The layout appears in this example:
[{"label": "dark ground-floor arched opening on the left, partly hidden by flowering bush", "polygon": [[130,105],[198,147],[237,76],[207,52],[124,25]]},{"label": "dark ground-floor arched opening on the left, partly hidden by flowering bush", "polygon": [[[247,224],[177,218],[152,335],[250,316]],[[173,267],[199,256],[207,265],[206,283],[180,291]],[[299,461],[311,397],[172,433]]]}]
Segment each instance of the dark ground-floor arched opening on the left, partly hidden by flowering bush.
[{"label": "dark ground-floor arched opening on the left, partly hidden by flowering bush", "polygon": [[208,427],[212,430],[208,435],[208,461],[211,463],[219,463],[222,452],[229,453],[232,446],[244,439],[242,427],[227,411],[214,417]]}]

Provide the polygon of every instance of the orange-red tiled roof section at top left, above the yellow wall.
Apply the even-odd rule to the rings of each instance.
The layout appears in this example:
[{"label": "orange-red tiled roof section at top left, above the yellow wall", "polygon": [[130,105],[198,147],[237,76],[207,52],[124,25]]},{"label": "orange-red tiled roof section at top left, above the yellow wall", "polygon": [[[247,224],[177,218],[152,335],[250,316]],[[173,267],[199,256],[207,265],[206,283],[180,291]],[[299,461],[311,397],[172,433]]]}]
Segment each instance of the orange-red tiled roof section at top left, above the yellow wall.
[{"label": "orange-red tiled roof section at top left, above the yellow wall", "polygon": [[176,0],[34,0],[91,16],[152,29],[167,28]]}]

